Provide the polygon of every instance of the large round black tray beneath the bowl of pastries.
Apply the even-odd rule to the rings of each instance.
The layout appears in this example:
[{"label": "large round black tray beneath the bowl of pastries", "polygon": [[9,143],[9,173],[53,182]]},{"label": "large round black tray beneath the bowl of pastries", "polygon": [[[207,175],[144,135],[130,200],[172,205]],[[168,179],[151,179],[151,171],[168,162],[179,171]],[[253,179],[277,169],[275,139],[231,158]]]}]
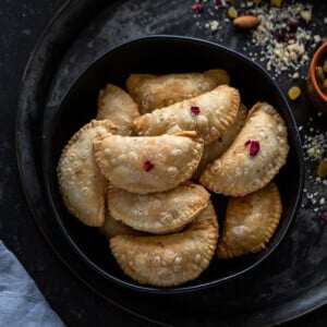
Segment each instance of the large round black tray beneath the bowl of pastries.
[{"label": "large round black tray beneath the bowl of pastries", "polygon": [[[194,24],[191,4],[159,0],[72,0],[64,4],[44,33],[23,78],[16,122],[22,184],[41,232],[62,262],[97,293],[123,310],[175,326],[262,326],[287,322],[327,302],[326,222],[315,218],[310,204],[300,208],[280,246],[249,274],[209,290],[165,296],[140,294],[109,283],[76,256],[49,214],[39,150],[45,108],[58,106],[80,73],[122,40],[149,34],[210,38]],[[241,49],[242,41],[227,31],[225,46]],[[279,84],[282,88],[288,85],[282,77]],[[311,118],[311,110],[303,96],[294,111],[299,124]],[[326,120],[320,119],[317,124],[326,130]],[[306,162],[306,170],[312,170],[311,162]],[[306,189],[315,191],[307,178]]]}]

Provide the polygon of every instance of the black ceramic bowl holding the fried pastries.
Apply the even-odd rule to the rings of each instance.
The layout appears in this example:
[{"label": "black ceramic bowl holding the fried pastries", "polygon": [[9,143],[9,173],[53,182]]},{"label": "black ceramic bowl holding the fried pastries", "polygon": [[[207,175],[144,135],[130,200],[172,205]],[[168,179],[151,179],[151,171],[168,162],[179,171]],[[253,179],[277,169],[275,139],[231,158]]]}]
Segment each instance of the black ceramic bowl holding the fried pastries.
[{"label": "black ceramic bowl holding the fried pastries", "polygon": [[[108,241],[98,229],[80,223],[63,206],[56,175],[58,159],[70,137],[96,116],[98,92],[107,83],[124,87],[130,73],[201,72],[213,68],[226,69],[230,73],[231,85],[240,90],[249,108],[258,100],[265,100],[272,104],[286,120],[290,153],[287,165],[276,178],[282,197],[282,216],[266,249],[256,254],[231,261],[214,258],[210,266],[197,279],[180,287],[159,289],[142,286],[122,272],[110,254]],[[96,60],[75,81],[58,108],[46,109],[43,132],[45,135],[43,173],[52,210],[49,214],[58,221],[62,237],[66,238],[75,250],[76,256],[81,256],[85,265],[105,276],[108,282],[136,291],[157,293],[195,291],[222,283],[251,270],[276,250],[299,206],[303,184],[302,147],[286,98],[261,66],[240,53],[214,43],[179,36],[149,36],[116,47]],[[215,204],[217,198],[213,195]],[[219,213],[218,217],[221,218],[222,215],[223,213]]]}]

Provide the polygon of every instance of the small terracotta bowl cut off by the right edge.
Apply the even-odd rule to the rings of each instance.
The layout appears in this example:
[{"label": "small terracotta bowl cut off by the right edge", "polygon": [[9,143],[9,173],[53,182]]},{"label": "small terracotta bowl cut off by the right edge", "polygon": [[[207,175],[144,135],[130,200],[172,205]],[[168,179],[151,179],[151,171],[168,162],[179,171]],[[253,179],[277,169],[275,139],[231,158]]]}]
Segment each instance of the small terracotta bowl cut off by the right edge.
[{"label": "small terracotta bowl cut off by the right edge", "polygon": [[324,43],[312,58],[306,78],[306,92],[314,107],[327,114],[327,96],[322,92],[315,74],[315,68],[324,56],[327,56],[327,43]]}]

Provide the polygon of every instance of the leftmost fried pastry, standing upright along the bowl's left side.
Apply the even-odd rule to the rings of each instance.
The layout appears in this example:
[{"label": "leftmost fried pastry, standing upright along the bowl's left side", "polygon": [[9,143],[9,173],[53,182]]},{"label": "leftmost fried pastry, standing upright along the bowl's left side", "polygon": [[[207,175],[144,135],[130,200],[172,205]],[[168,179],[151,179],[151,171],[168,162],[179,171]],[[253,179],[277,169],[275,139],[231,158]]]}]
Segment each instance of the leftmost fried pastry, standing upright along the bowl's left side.
[{"label": "leftmost fried pastry, standing upright along the bowl's left side", "polygon": [[59,189],[69,211],[88,226],[105,221],[107,181],[93,156],[93,140],[112,133],[109,120],[93,120],[76,132],[63,148],[57,167]]}]

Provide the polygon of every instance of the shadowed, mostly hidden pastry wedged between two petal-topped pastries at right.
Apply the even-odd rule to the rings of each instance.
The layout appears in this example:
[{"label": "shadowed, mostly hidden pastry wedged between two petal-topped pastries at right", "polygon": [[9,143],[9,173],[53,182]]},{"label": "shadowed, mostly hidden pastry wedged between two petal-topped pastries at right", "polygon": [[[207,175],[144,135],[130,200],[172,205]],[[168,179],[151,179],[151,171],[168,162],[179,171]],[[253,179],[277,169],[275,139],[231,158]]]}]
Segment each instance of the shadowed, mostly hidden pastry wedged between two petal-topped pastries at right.
[{"label": "shadowed, mostly hidden pastry wedged between two petal-topped pastries at right", "polygon": [[196,171],[193,174],[193,179],[197,180],[208,162],[211,162],[219,158],[233,143],[235,136],[243,128],[247,116],[247,108],[244,104],[240,105],[235,121],[233,124],[222,133],[220,137],[205,145],[202,159],[198,164]]}]

